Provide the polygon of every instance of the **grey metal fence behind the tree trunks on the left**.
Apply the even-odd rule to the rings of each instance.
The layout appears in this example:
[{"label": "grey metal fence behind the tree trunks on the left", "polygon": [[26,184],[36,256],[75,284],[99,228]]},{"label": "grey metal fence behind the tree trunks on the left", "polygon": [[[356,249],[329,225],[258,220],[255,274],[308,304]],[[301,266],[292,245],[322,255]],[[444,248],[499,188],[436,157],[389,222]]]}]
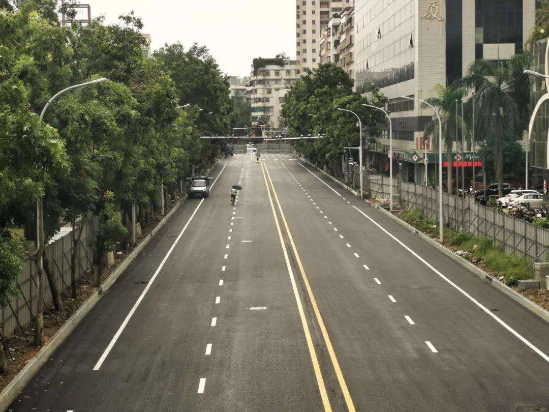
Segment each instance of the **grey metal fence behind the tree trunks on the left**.
[{"label": "grey metal fence behind the tree trunks on the left", "polygon": [[[97,224],[97,217],[83,224],[79,250],[76,253],[76,279],[80,279],[82,274],[92,266],[90,243],[95,237]],[[79,229],[77,228],[77,230]],[[59,291],[64,291],[70,285],[72,249],[71,233],[46,246],[49,271],[53,274],[55,285]],[[2,309],[2,336],[11,336],[17,327],[23,327],[34,319],[37,304],[36,280],[36,265],[33,260],[27,258],[25,268],[16,280],[19,293]],[[48,284],[44,285],[44,303],[46,305],[53,303]]]}]

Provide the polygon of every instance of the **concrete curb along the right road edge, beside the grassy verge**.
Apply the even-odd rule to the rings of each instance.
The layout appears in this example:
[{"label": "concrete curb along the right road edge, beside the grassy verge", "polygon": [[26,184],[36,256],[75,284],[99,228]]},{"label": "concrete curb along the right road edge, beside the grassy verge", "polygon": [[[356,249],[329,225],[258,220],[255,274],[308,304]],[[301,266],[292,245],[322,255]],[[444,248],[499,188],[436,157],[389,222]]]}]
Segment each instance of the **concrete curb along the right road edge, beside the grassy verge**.
[{"label": "concrete curb along the right road edge, beside the grassy verge", "polygon": [[[340,186],[342,186],[345,189],[349,190],[355,196],[358,196],[358,193],[356,191],[352,190],[351,188],[346,186],[344,183],[342,183],[339,180],[335,179],[335,177],[328,175],[324,170],[321,170],[321,169],[317,168],[315,165],[313,165],[312,163],[307,162],[307,160],[305,160],[305,159],[303,159],[299,156],[298,156],[298,158],[301,159],[303,162],[311,165],[313,168],[320,171],[323,175],[329,177],[334,182],[338,183]],[[458,264],[463,266],[463,268],[469,270],[474,275],[480,277],[480,279],[483,279],[484,281],[490,283],[490,285],[495,287],[496,289],[498,289],[498,291],[500,291],[502,293],[505,293],[508,297],[510,297],[511,299],[513,299],[514,301],[516,301],[517,303],[519,303],[520,305],[522,305],[526,309],[528,309],[531,312],[535,313],[537,316],[540,316],[541,319],[545,320],[546,322],[549,322],[549,311],[542,308],[540,305],[537,305],[536,303],[532,302],[530,299],[525,298],[524,296],[522,296],[522,294],[514,291],[513,289],[511,289],[510,287],[505,285],[505,283],[500,282],[499,280],[497,280],[494,277],[490,276],[484,270],[482,270],[480,268],[477,268],[477,266],[470,263],[470,261],[468,261],[466,259],[463,259],[461,256],[456,255],[450,249],[446,248],[444,245],[440,244],[439,242],[437,242],[437,241],[433,240],[432,238],[430,238],[429,236],[425,235],[425,233],[417,230],[415,227],[408,224],[404,220],[400,219],[398,216],[390,213],[390,211],[385,210],[384,208],[382,208],[378,205],[375,205],[372,202],[369,202],[367,200],[365,200],[365,202],[368,203],[369,205],[372,205],[373,207],[377,208],[378,210],[382,211],[382,213],[389,216],[391,219],[394,219],[399,225],[405,227],[410,232],[414,233],[415,235],[418,235],[423,240],[425,240],[426,242],[428,242],[429,244],[431,244],[435,248],[439,249],[447,257],[455,260]]]}]

